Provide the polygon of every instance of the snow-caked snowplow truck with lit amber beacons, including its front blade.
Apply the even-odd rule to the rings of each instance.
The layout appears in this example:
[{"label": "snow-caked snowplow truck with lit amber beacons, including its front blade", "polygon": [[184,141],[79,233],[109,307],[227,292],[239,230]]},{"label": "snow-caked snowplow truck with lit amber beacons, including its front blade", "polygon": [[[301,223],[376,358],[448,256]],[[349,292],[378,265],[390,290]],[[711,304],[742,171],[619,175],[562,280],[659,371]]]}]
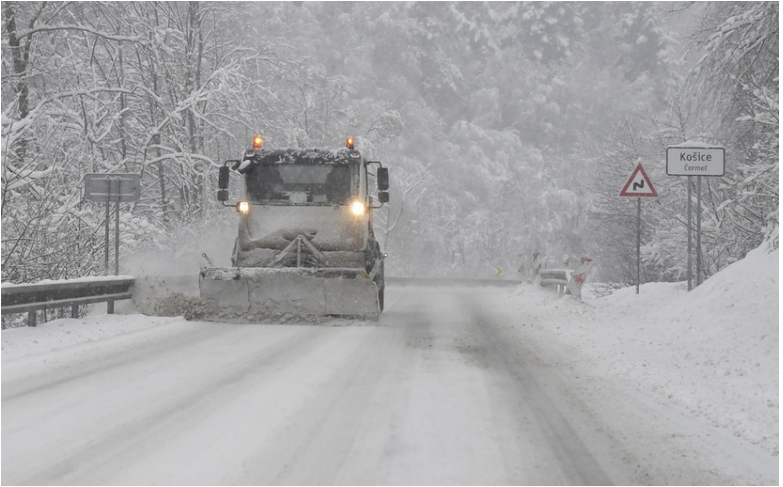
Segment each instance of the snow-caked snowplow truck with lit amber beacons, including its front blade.
[{"label": "snow-caked snowplow truck with lit amber beacons, including its front blade", "polygon": [[[201,269],[202,300],[225,319],[377,320],[385,254],[373,211],[389,201],[388,169],[365,160],[352,138],[338,150],[263,149],[262,143],[256,136],[242,159],[219,168],[217,199],[236,207],[239,234],[232,267]],[[231,171],[242,177],[236,204],[227,203]]]}]

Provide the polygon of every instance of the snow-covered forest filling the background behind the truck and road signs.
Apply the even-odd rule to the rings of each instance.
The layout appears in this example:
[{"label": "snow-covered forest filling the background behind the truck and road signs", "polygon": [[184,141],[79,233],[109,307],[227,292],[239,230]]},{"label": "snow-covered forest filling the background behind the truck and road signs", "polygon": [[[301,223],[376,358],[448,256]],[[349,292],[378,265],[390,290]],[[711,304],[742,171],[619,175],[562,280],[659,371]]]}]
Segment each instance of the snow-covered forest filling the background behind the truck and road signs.
[{"label": "snow-covered forest filling the background behind the truck and road signs", "polygon": [[706,278],[778,245],[778,22],[777,2],[3,1],[2,280],[103,273],[87,173],[141,174],[121,255],[226,264],[217,167],[256,133],[352,135],[390,168],[390,275],[510,273],[537,251],[588,255],[614,286],[636,279],[632,170],[659,194],[642,281],[683,280],[689,178],[665,149],[724,147],[702,181]]}]

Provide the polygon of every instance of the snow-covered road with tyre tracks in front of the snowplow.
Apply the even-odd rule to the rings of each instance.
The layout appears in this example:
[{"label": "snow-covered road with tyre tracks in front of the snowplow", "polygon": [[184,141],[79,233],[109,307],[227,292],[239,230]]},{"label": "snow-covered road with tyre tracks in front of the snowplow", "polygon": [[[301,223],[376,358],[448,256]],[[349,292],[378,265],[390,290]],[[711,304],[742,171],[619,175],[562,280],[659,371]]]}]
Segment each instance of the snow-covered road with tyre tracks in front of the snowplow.
[{"label": "snow-covered road with tyre tracks in front of the snowplow", "polygon": [[395,287],[377,324],[168,319],[6,354],[3,484],[732,483],[661,433],[676,413],[585,385],[497,293]]}]

